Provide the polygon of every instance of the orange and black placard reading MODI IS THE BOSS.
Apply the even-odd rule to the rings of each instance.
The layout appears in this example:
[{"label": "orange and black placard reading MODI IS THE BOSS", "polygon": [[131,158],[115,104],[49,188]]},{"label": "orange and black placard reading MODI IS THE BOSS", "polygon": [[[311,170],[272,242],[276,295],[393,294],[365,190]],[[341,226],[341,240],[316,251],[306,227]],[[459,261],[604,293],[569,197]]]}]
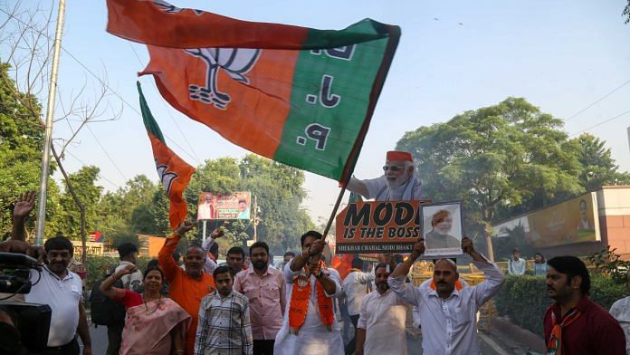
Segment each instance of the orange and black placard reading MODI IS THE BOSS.
[{"label": "orange and black placard reading MODI IS THE BOSS", "polygon": [[357,202],[336,218],[336,254],[410,253],[422,235],[427,201]]}]

